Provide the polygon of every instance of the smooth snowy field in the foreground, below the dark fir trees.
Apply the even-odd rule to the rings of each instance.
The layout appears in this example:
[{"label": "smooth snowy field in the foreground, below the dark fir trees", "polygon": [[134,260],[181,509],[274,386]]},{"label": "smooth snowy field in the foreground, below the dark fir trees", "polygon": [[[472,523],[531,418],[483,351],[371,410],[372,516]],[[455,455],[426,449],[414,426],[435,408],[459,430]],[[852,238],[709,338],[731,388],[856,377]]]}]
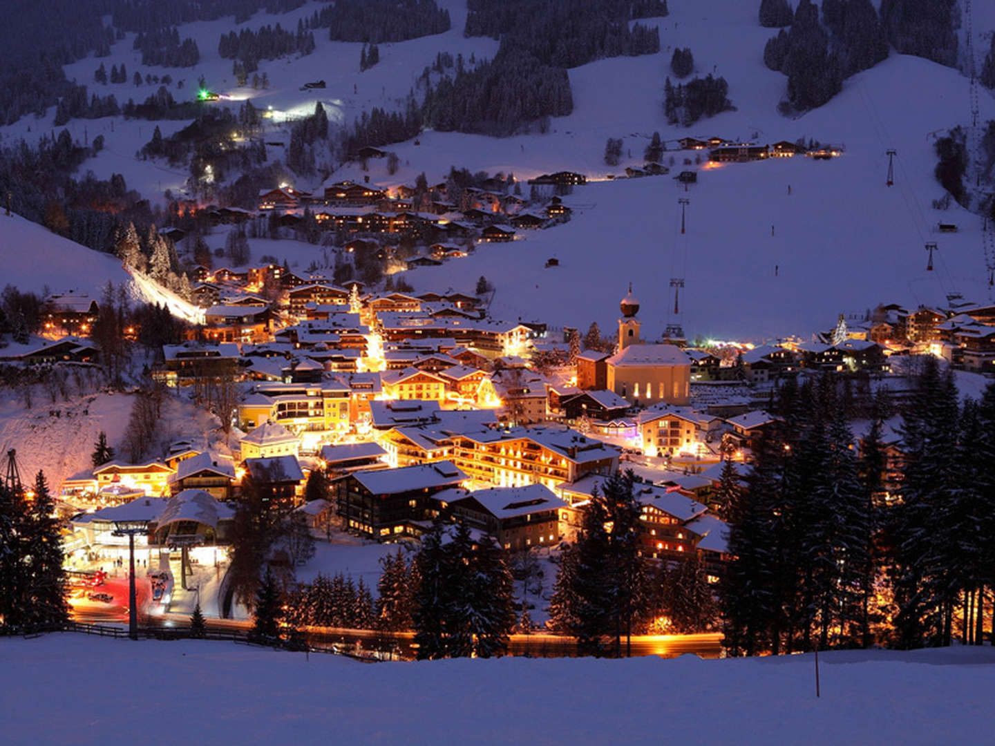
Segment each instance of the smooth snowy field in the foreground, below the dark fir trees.
[{"label": "smooth snowy field in the foreground, below the dark fir trees", "polygon": [[[358,663],[230,643],[0,640],[3,742],[956,743],[991,733],[990,649]],[[132,688],[134,687],[134,688]]]}]

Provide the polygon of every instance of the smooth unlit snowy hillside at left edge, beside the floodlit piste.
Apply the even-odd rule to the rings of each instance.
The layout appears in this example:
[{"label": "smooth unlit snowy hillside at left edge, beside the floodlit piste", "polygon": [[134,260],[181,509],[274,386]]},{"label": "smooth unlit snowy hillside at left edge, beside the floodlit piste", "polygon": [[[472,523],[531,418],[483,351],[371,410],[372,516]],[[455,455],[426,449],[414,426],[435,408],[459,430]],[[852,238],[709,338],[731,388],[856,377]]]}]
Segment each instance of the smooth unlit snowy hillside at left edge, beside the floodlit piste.
[{"label": "smooth unlit snowy hillside at left edge, beside the floodlit piste", "polygon": [[107,280],[114,284],[129,277],[120,260],[58,236],[19,215],[0,213],[0,283],[23,291],[74,290],[100,298]]}]

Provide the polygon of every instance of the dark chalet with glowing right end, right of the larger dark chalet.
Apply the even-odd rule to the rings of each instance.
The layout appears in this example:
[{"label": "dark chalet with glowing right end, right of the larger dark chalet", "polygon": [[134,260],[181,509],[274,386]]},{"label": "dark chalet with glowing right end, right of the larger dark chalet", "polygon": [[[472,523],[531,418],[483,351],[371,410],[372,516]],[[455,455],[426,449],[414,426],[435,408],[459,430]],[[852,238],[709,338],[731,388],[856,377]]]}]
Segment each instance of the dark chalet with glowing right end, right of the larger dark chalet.
[{"label": "dark chalet with glowing right end, right of the larger dark chalet", "polygon": [[576,514],[543,484],[491,489],[446,489],[435,498],[461,523],[487,531],[508,551],[571,540]]}]

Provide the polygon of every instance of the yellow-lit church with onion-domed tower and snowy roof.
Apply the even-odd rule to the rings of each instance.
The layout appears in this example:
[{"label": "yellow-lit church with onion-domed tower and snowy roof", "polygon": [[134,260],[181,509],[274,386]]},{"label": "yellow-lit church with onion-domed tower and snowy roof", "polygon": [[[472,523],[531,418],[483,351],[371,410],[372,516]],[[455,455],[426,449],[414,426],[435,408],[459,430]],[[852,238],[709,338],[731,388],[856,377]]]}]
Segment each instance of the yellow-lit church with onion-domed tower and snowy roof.
[{"label": "yellow-lit church with onion-domed tower and snowy roof", "polygon": [[634,404],[691,403],[691,358],[673,344],[644,344],[636,315],[639,301],[622,298],[619,349],[608,358],[608,389]]}]

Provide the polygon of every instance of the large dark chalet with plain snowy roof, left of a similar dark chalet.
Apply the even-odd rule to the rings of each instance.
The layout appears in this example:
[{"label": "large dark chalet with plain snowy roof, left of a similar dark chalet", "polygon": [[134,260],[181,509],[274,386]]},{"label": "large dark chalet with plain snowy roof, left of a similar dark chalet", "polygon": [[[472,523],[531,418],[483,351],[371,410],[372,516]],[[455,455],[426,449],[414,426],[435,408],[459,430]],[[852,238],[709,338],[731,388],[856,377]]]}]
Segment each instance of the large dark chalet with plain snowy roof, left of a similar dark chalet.
[{"label": "large dark chalet with plain snowy roof, left of a similar dark chalet", "polygon": [[353,471],[333,483],[343,525],[360,536],[393,541],[420,536],[439,515],[433,495],[459,486],[467,474],[452,462]]}]

